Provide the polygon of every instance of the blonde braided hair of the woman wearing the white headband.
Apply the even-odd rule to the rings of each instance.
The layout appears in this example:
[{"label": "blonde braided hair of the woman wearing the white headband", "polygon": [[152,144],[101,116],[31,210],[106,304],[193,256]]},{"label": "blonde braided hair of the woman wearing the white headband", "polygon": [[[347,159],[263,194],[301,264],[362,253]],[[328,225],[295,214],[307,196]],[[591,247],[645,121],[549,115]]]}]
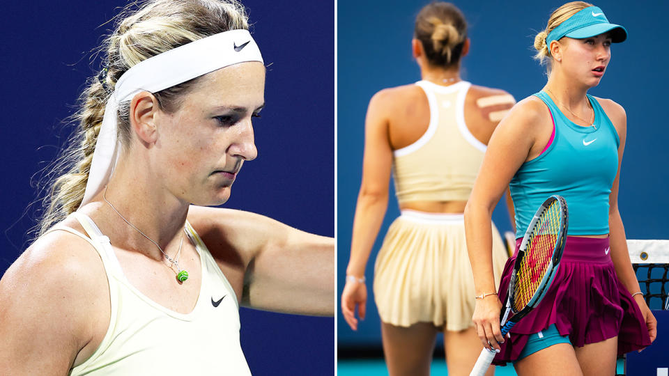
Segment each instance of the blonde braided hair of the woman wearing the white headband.
[{"label": "blonde braided hair of the woman wearing the white headband", "polygon": [[[125,71],[188,42],[248,27],[245,10],[236,0],[144,0],[124,8],[115,17],[115,30],[98,49],[105,68],[89,79],[79,97],[79,110],[72,116],[72,123],[78,123],[77,130],[55,162],[56,168],[46,177],[52,181],[43,199],[46,210],[36,228],[37,235],[82,203],[105,105]],[[153,93],[161,109],[176,111],[197,80]],[[122,103],[117,113],[118,136],[124,148],[130,141],[129,105],[129,101]]]}]

